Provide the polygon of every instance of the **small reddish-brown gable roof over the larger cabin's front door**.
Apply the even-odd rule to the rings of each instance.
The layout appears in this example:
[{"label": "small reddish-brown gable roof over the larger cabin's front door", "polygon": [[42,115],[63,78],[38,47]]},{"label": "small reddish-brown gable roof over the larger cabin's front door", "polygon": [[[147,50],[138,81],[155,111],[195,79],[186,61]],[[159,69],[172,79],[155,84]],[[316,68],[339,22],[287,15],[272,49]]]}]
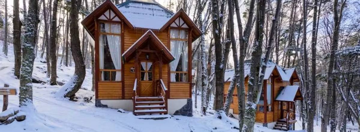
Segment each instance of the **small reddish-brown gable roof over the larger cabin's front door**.
[{"label": "small reddish-brown gable roof over the larger cabin's front door", "polygon": [[138,49],[138,47],[142,46],[144,44],[144,42],[148,39],[151,39],[153,47],[157,47],[158,49],[160,49],[161,51],[163,51],[164,57],[165,57],[165,62],[170,63],[173,60],[175,60],[175,57],[171,54],[171,52],[167,49],[167,47],[159,40],[159,38],[154,34],[153,31],[151,31],[150,29],[145,32],[143,34],[143,36],[141,36],[138,40],[136,40],[134,42],[134,44],[132,44],[129,49],[127,49],[123,54],[122,54],[122,58],[125,62],[128,62],[131,59],[132,54],[136,51],[136,49]]}]

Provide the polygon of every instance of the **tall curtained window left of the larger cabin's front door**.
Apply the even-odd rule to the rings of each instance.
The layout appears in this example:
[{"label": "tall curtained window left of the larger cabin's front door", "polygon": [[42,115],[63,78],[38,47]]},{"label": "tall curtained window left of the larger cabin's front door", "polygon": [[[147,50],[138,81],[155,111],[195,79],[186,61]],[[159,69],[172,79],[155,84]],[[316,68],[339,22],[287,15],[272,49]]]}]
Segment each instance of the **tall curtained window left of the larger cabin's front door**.
[{"label": "tall curtained window left of the larger cabin's front door", "polygon": [[100,81],[121,81],[121,25],[100,23]]}]

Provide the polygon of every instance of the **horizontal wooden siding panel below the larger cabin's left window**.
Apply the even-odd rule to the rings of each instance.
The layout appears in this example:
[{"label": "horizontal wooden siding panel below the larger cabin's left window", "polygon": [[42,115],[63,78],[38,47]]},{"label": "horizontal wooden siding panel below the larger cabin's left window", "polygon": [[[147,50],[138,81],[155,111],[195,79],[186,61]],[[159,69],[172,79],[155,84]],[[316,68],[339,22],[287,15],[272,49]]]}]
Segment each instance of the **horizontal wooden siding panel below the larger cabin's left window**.
[{"label": "horizontal wooden siding panel below the larger cabin's left window", "polygon": [[98,82],[98,99],[121,99],[121,82]]}]

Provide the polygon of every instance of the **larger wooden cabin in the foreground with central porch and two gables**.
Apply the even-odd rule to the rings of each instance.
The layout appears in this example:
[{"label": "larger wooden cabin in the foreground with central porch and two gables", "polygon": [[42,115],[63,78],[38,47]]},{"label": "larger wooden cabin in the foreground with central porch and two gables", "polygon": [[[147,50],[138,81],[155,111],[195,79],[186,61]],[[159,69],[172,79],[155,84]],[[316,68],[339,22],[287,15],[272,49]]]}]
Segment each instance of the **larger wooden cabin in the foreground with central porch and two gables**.
[{"label": "larger wooden cabin in the foreground with central porch and two gables", "polygon": [[183,9],[106,0],[81,24],[94,39],[95,106],[192,116],[192,42],[201,31]]}]

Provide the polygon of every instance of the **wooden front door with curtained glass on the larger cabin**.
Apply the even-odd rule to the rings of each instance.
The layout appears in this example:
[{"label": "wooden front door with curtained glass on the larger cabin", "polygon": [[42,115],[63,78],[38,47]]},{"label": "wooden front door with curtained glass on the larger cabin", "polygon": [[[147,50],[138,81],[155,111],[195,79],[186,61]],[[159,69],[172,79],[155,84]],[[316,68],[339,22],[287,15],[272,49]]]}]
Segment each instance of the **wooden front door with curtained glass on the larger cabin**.
[{"label": "wooden front door with curtained glass on the larger cabin", "polygon": [[153,79],[153,63],[152,62],[140,62],[140,96],[154,96],[154,79]]}]

